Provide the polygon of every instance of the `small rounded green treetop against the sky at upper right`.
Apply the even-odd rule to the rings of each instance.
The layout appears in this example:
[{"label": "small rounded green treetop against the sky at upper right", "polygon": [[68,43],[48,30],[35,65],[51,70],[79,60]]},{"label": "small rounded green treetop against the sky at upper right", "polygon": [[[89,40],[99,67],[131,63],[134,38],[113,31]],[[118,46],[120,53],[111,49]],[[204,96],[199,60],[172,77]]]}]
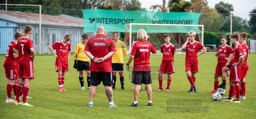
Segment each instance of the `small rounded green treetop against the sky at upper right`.
[{"label": "small rounded green treetop against the sky at upper right", "polygon": [[225,4],[223,1],[220,1],[220,3],[215,5],[215,10],[221,14],[230,14],[231,11],[234,11],[234,8],[232,4]]}]

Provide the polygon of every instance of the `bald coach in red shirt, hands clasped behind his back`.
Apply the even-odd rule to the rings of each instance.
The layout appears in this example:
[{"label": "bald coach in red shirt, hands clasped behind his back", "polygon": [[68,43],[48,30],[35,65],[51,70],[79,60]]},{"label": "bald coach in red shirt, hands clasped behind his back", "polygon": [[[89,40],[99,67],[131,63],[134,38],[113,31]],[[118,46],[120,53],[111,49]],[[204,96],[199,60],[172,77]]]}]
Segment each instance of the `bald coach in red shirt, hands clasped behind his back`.
[{"label": "bald coach in red shirt, hands clasped behind his back", "polygon": [[103,82],[105,93],[108,97],[109,106],[117,107],[113,102],[112,85],[112,55],[115,54],[115,44],[111,38],[105,36],[105,28],[98,27],[97,35],[90,38],[84,52],[91,59],[91,87],[89,91],[88,106],[94,106],[93,100],[96,95],[97,86]]}]

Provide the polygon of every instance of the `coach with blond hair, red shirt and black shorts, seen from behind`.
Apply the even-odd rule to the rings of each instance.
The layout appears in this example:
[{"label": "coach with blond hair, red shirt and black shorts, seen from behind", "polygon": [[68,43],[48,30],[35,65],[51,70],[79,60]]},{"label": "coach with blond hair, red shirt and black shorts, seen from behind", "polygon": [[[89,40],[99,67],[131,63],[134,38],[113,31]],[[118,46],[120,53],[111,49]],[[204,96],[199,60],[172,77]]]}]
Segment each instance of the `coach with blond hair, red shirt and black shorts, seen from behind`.
[{"label": "coach with blond hair, red shirt and black shorts, seen from behind", "polygon": [[151,74],[149,58],[150,52],[156,53],[154,46],[147,41],[148,35],[144,29],[140,29],[137,33],[137,40],[133,44],[132,51],[130,53],[130,58],[128,63],[126,63],[126,70],[129,71],[129,65],[133,61],[133,76],[131,83],[134,84],[134,102],[130,106],[138,107],[138,95],[139,95],[139,85],[145,84],[148,93],[148,106],[152,106],[152,88],[151,88]]}]

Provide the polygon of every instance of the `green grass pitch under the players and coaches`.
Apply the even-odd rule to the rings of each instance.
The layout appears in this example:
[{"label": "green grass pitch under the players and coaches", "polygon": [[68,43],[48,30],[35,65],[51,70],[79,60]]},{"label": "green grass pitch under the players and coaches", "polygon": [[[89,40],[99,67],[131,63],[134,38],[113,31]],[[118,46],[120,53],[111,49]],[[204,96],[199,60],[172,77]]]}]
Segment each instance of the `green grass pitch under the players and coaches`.
[{"label": "green grass pitch under the players and coaches", "polygon": [[[125,64],[129,58],[125,56]],[[35,79],[31,81],[29,94],[32,99],[27,102],[35,107],[22,107],[5,102],[7,93],[3,63],[4,55],[0,55],[0,118],[1,119],[48,119],[48,118],[256,118],[255,116],[255,92],[256,92],[256,54],[250,53],[248,64],[250,71],[247,73],[246,84],[246,100],[241,103],[232,104],[229,102],[216,102],[212,99],[212,94],[208,91],[213,90],[214,72],[217,63],[217,57],[214,54],[204,54],[198,57],[199,73],[196,73],[197,93],[188,93],[190,83],[185,73],[185,55],[176,55],[174,58],[174,67],[176,73],[172,74],[172,82],[170,91],[158,91],[157,71],[151,71],[153,83],[152,102],[153,106],[148,107],[148,96],[145,85],[139,93],[139,107],[130,107],[133,103],[133,84],[130,83],[129,74],[131,72],[125,70],[125,91],[121,90],[119,75],[117,74],[116,89],[113,91],[113,100],[118,107],[108,108],[108,99],[105,95],[102,83],[97,88],[94,98],[94,107],[88,107],[89,90],[80,90],[79,73],[73,69],[73,54],[69,59],[69,72],[65,73],[64,88],[68,91],[58,92],[58,73],[55,72],[55,57],[53,55],[36,55],[34,60]],[[162,55],[151,55],[150,64],[152,68],[160,66]],[[133,66],[133,62],[130,64]],[[166,77],[166,75],[164,76]],[[84,79],[86,73],[84,72]],[[229,77],[227,77],[227,80]],[[221,78],[219,78],[221,83]],[[85,86],[87,86],[86,80]],[[166,88],[167,79],[163,80],[163,89]],[[227,84],[226,94],[228,95],[229,86]],[[223,95],[222,95],[223,97]],[[12,95],[14,98],[14,94]],[[175,105],[176,101],[189,102],[199,101],[200,105]],[[173,104],[172,104],[173,102]],[[201,112],[182,112],[184,107],[201,109]],[[170,112],[172,109],[179,108],[180,112]],[[208,110],[207,110],[208,109]],[[177,111],[177,110],[176,110]],[[194,110],[196,111],[196,110]]]}]

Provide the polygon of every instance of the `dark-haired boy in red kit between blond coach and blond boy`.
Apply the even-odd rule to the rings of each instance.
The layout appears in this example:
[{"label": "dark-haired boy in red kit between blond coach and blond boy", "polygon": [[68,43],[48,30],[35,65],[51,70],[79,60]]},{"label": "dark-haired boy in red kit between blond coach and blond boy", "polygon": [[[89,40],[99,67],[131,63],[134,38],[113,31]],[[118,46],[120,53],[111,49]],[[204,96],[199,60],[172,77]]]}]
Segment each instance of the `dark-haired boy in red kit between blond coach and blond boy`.
[{"label": "dark-haired boy in red kit between blond coach and blond boy", "polygon": [[169,34],[164,35],[165,44],[161,46],[161,53],[163,53],[162,56],[162,63],[159,69],[158,74],[158,82],[159,82],[159,89],[155,91],[162,91],[162,74],[167,73],[168,79],[167,79],[167,87],[165,91],[169,91],[169,87],[172,81],[172,73],[175,73],[174,70],[174,55],[175,55],[175,46],[170,43],[170,36]]}]

